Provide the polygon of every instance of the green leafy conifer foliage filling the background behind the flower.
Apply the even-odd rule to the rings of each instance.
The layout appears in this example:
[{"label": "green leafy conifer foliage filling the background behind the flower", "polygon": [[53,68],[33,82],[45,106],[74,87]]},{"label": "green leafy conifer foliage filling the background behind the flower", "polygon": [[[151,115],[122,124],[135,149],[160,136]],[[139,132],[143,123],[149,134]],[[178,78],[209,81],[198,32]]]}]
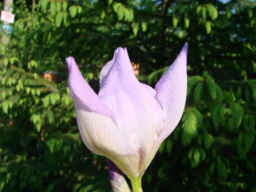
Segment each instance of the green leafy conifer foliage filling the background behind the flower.
[{"label": "green leafy conifer foliage filling the background behind the flower", "polygon": [[65,58],[76,58],[97,92],[102,66],[127,47],[138,79],[154,87],[185,42],[186,109],[143,190],[256,191],[255,1],[14,2],[12,34],[0,45],[0,191],[110,191],[105,157],[81,141]]}]

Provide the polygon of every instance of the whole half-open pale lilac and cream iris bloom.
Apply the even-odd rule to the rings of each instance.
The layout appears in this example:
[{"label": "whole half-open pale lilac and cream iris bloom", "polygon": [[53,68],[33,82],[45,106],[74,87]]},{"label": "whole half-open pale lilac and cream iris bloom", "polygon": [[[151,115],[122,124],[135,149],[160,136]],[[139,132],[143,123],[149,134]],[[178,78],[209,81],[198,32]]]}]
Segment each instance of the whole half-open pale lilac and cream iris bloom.
[{"label": "whole half-open pale lilac and cream iris bloom", "polygon": [[186,58],[187,44],[153,89],[137,80],[126,48],[117,48],[101,71],[98,95],[74,58],[66,59],[82,140],[90,151],[115,163],[136,187],[141,188],[145,169],[183,114]]}]

